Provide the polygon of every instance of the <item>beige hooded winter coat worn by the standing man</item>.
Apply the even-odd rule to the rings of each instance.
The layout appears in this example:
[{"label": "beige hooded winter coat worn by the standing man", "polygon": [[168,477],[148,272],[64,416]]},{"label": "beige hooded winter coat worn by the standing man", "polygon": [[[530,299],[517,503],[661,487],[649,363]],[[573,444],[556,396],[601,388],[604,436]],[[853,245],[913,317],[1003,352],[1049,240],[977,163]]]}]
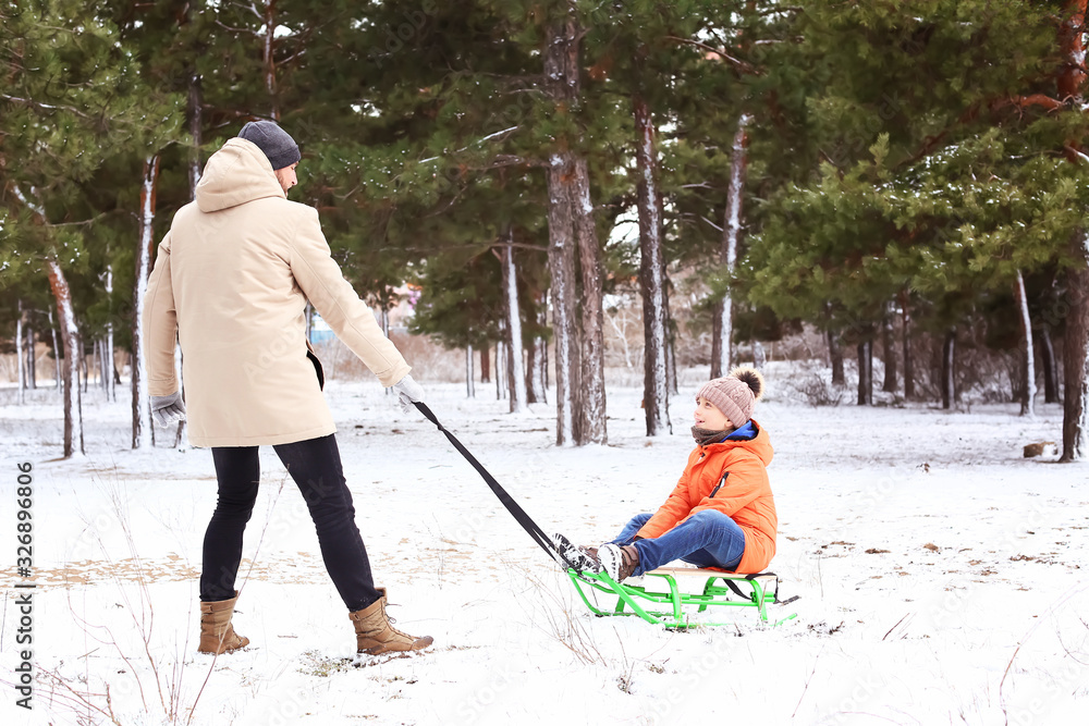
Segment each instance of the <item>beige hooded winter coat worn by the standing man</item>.
[{"label": "beige hooded winter coat worn by the standing man", "polygon": [[174,214],[144,303],[150,394],[178,391],[176,331],[194,446],[337,430],[306,356],[307,298],[382,385],[409,371],[330,257],[318,212],[287,201],[261,150],[232,138]]}]

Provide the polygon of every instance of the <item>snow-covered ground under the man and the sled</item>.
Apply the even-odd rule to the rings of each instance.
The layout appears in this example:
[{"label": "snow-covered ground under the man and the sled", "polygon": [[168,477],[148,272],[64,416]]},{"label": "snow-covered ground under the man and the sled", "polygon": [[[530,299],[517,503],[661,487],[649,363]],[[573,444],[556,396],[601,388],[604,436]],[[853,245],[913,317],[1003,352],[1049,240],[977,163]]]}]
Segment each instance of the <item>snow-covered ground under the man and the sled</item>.
[{"label": "snow-covered ground under the man and the sled", "polygon": [[[585,448],[553,445],[551,406],[512,416],[487,386],[475,399],[427,391],[546,530],[579,542],[657,507],[692,446],[693,390],[672,404],[675,435],[648,440],[640,392],[611,389],[610,444]],[[304,503],[269,450],[234,619],[252,645],[196,653],[209,452],[129,451],[129,404],[93,391],[87,457],[56,460],[59,401],[39,391],[0,407],[0,724],[1086,723],[1089,469],[1021,457],[1060,439],[1057,406],[1024,420],[1015,406],[758,404],[776,450],[771,569],[800,595],[772,614],[798,616],[769,627],[738,610],[732,627],[674,632],[586,612],[445,439],[377,383],[327,393],[376,579],[397,626],[435,647],[354,656]],[[26,648],[23,462],[39,585],[32,712],[12,687]]]}]

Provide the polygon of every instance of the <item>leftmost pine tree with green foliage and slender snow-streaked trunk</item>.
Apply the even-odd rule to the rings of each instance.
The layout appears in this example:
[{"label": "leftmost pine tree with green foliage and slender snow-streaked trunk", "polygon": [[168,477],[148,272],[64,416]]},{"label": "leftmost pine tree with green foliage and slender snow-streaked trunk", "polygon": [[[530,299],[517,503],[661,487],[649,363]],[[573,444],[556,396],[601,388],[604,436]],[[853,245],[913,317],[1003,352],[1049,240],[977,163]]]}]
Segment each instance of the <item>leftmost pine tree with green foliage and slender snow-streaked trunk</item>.
[{"label": "leftmost pine tree with green foliage and slender snow-streaked trunk", "polygon": [[83,451],[83,343],[74,293],[88,273],[97,279],[82,234],[99,211],[88,202],[106,160],[143,132],[149,111],[117,26],[97,12],[65,0],[0,11],[9,81],[0,95],[8,217],[0,244],[3,263],[21,276],[47,278],[57,300],[65,456]]}]

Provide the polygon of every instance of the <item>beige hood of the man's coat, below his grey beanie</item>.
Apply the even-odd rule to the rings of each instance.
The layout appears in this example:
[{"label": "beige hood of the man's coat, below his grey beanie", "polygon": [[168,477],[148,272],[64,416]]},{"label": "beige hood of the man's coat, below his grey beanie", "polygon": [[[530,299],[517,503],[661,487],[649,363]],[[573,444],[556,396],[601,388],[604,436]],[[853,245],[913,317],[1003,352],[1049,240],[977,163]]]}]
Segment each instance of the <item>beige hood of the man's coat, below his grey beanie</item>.
[{"label": "beige hood of the man's coat, below his grey beanie", "polygon": [[195,196],[200,211],[216,212],[254,199],[287,195],[265,152],[253,141],[232,138],[208,159]]}]

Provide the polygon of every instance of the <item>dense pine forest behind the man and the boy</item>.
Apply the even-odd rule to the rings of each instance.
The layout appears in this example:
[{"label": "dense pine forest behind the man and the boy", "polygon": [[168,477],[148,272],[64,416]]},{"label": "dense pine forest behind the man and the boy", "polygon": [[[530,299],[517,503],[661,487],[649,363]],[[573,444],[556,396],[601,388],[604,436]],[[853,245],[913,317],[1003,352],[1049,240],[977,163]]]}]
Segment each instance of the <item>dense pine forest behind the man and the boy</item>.
[{"label": "dense pine forest behind the man and the boy", "polygon": [[[699,362],[715,376],[736,346],[808,325],[833,383],[857,350],[864,405],[883,384],[949,407],[958,347],[1015,355],[1010,395],[1028,415],[1038,389],[1062,397],[1062,458],[1081,458],[1080,12],[15,3],[0,96],[4,349],[32,385],[36,341],[63,362],[65,454],[79,451],[87,364],[69,361],[89,356],[120,381],[101,361],[138,350],[134,313],[172,212],[211,151],[271,119],[303,150],[293,198],[318,208],[356,290],[378,310],[418,291],[412,325],[444,345],[503,344],[512,407],[544,398],[547,360],[558,443],[608,440],[603,300],[621,288],[641,308],[649,435],[668,428],[678,335],[705,334]],[[705,286],[682,331],[685,275]],[[916,390],[932,367],[913,355],[922,339],[941,348],[929,393]]]}]

